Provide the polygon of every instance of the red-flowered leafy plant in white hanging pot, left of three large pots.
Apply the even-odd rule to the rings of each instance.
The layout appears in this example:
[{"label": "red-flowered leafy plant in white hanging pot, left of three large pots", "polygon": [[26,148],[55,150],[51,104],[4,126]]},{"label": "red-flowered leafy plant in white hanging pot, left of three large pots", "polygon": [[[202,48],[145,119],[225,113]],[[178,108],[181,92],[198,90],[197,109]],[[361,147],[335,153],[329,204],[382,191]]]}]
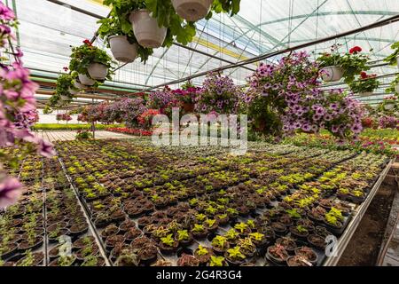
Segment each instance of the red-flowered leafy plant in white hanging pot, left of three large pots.
[{"label": "red-flowered leafy plant in white hanging pot, left of three large pots", "polygon": [[79,74],[79,81],[84,85],[98,85],[106,79],[111,80],[113,60],[98,47],[85,40],[81,46],[73,47],[69,69]]}]

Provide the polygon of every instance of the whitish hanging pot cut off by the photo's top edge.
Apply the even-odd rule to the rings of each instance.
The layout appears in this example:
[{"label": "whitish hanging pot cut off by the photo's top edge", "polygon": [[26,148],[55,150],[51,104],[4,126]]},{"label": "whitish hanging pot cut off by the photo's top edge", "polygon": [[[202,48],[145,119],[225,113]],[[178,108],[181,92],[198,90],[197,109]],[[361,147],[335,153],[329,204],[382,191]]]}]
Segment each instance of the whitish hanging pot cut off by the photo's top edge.
[{"label": "whitish hanging pot cut off by the photo's top edge", "polygon": [[204,19],[212,3],[213,0],[172,0],[177,15],[188,21]]}]

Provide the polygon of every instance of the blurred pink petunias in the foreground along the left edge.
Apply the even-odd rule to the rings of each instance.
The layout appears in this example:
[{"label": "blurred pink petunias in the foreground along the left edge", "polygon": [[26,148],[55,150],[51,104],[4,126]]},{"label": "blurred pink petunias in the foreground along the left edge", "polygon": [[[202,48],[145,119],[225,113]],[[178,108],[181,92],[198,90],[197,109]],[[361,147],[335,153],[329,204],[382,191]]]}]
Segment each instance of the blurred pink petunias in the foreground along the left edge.
[{"label": "blurred pink petunias in the foreground along the left edge", "polygon": [[52,145],[35,136],[30,127],[37,121],[35,91],[38,85],[29,79],[23,67],[23,53],[15,48],[12,29],[18,27],[15,13],[0,1],[0,49],[10,58],[0,58],[0,147],[15,147],[18,154],[0,149],[0,209],[20,198],[22,185],[2,170],[4,162],[17,166],[24,156],[37,152],[46,157],[54,154]]}]

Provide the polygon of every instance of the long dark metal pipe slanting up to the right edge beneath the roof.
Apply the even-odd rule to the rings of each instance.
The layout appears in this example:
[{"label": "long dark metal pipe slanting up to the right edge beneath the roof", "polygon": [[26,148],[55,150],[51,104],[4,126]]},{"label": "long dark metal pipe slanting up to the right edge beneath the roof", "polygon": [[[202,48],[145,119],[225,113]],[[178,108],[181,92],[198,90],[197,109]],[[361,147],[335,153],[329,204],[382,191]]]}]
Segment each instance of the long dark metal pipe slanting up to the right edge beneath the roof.
[{"label": "long dark metal pipe slanting up to the right edge beneath the roof", "polygon": [[311,41],[309,43],[302,43],[302,44],[299,44],[299,45],[296,45],[296,46],[293,46],[293,47],[286,48],[284,50],[274,51],[274,52],[270,52],[270,53],[263,54],[263,55],[260,55],[260,56],[256,56],[253,59],[246,59],[246,60],[239,61],[238,63],[235,63],[235,64],[226,65],[226,66],[223,66],[223,67],[218,67],[218,68],[215,68],[215,69],[212,69],[212,70],[207,70],[205,72],[201,72],[201,73],[196,74],[196,75],[190,75],[190,76],[184,77],[182,79],[174,80],[174,81],[171,81],[171,82],[168,82],[168,83],[162,83],[162,84],[153,86],[152,88],[148,88],[148,89],[146,89],[144,91],[152,91],[152,90],[158,89],[160,87],[173,85],[173,84],[176,84],[176,83],[182,83],[184,81],[188,81],[188,80],[191,80],[193,78],[198,78],[198,77],[201,77],[201,76],[205,76],[209,72],[220,72],[220,71],[231,69],[231,68],[234,68],[234,67],[243,67],[243,66],[246,66],[246,65],[254,63],[254,62],[258,62],[258,61],[261,61],[261,60],[264,60],[264,59],[269,59],[271,57],[275,57],[275,56],[278,56],[278,55],[281,55],[281,54],[284,54],[284,53],[287,53],[287,52],[300,50],[300,49],[303,49],[305,47],[309,47],[311,45],[316,45],[318,43],[329,42],[329,41],[332,41],[332,40],[340,38],[340,37],[357,34],[357,33],[363,32],[365,30],[372,29],[372,28],[380,28],[380,27],[392,24],[392,23],[394,23],[396,21],[399,21],[399,14],[397,14],[397,15],[395,15],[393,17],[389,17],[386,20],[379,20],[379,21],[374,22],[374,23],[372,23],[370,25],[367,25],[367,26],[364,26],[364,27],[360,27],[360,28],[355,28],[355,29],[349,30],[347,32],[340,33],[340,34],[335,35],[335,36],[327,36],[327,37],[324,37],[324,38],[317,39],[315,41]]}]

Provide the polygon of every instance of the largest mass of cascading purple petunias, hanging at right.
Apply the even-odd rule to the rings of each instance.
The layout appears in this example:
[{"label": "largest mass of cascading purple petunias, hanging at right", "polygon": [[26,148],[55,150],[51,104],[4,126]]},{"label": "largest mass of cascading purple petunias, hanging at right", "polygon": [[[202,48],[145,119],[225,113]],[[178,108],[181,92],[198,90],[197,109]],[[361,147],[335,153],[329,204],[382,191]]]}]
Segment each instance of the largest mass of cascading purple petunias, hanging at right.
[{"label": "largest mass of cascading purple petunias, hanging at right", "polygon": [[306,52],[258,67],[248,78],[245,99],[254,130],[281,137],[297,130],[327,129],[339,138],[356,138],[362,130],[363,108],[341,90],[321,91],[318,70]]}]

